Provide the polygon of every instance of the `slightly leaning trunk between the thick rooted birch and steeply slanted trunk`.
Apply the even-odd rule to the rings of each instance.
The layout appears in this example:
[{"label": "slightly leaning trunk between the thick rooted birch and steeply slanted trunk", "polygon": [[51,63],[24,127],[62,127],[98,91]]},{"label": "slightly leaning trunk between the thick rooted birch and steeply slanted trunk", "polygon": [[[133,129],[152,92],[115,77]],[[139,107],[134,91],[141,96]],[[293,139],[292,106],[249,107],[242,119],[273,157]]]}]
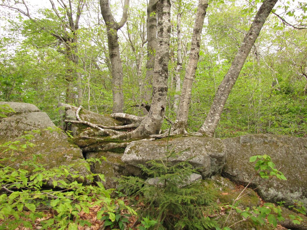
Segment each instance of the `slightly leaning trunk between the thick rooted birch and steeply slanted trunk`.
[{"label": "slightly leaning trunk between the thick rooted birch and steeply slanted trunk", "polygon": [[196,12],[196,19],[192,35],[191,53],[189,56],[188,67],[183,81],[180,103],[175,124],[172,128],[174,134],[186,134],[188,122],[188,110],[191,101],[192,85],[199,59],[201,33],[204,25],[204,18],[208,7],[208,0],[199,0]]}]

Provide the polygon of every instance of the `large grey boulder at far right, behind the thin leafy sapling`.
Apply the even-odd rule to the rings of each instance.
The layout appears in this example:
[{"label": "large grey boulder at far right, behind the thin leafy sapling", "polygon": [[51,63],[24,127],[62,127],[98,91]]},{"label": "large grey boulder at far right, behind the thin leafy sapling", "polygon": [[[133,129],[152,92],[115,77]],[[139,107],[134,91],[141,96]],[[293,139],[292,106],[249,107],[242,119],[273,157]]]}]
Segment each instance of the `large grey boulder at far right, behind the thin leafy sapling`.
[{"label": "large grey boulder at far right, behind the thin leafy sapling", "polygon": [[[247,185],[255,174],[249,158],[270,155],[276,168],[287,180],[271,179],[257,189],[258,194],[270,202],[286,201],[292,205],[298,200],[307,205],[307,139],[271,134],[245,135],[223,140],[227,149],[226,165],[222,175],[237,184]],[[257,177],[251,186],[257,187],[264,179]]]}]

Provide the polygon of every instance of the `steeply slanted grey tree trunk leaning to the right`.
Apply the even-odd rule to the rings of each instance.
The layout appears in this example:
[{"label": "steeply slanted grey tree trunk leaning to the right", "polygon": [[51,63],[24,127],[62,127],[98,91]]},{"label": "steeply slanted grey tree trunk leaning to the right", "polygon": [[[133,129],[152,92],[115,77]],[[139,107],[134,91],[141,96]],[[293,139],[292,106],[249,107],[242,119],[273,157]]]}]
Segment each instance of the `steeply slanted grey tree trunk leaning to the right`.
[{"label": "steeply slanted grey tree trunk leaning to the right", "polygon": [[238,79],[239,73],[243,67],[247,56],[249,55],[252,46],[254,45],[260,30],[266,21],[266,18],[269,16],[271,10],[275,6],[278,0],[265,0],[260,9],[258,10],[253,24],[251,25],[250,30],[244,37],[241,47],[237,55],[235,56],[234,61],[231,64],[230,69],[225,75],[222,83],[219,86],[219,89],[216,92],[216,96],[211,105],[210,111],[204,124],[201,126],[198,132],[207,135],[213,136],[216,127],[220,121],[220,117],[227,101],[228,95],[232,87],[234,86],[236,80]]}]

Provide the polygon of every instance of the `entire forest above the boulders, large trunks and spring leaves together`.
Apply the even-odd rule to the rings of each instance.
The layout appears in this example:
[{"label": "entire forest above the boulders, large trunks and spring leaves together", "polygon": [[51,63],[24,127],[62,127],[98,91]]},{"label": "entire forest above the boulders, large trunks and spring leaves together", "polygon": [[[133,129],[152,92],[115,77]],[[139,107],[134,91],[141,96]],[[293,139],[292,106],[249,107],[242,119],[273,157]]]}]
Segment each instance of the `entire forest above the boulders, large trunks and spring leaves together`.
[{"label": "entire forest above the boulders, large trunks and spring leaves together", "polygon": [[34,2],[0,1],[0,101],[146,116],[137,138],[306,137],[304,1]]}]

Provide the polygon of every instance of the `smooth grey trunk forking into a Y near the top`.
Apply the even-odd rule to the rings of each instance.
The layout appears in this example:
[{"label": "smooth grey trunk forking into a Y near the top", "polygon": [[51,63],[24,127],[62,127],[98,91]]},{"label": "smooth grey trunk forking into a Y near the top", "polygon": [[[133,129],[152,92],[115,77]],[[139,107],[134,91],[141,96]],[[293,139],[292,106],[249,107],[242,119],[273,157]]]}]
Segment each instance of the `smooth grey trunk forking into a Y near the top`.
[{"label": "smooth grey trunk forking into a Y near the top", "polygon": [[120,59],[117,31],[127,21],[128,6],[129,0],[125,0],[122,19],[120,22],[116,22],[111,13],[109,0],[100,0],[101,14],[107,27],[108,48],[112,69],[113,113],[121,113],[124,105],[122,60]]}]

